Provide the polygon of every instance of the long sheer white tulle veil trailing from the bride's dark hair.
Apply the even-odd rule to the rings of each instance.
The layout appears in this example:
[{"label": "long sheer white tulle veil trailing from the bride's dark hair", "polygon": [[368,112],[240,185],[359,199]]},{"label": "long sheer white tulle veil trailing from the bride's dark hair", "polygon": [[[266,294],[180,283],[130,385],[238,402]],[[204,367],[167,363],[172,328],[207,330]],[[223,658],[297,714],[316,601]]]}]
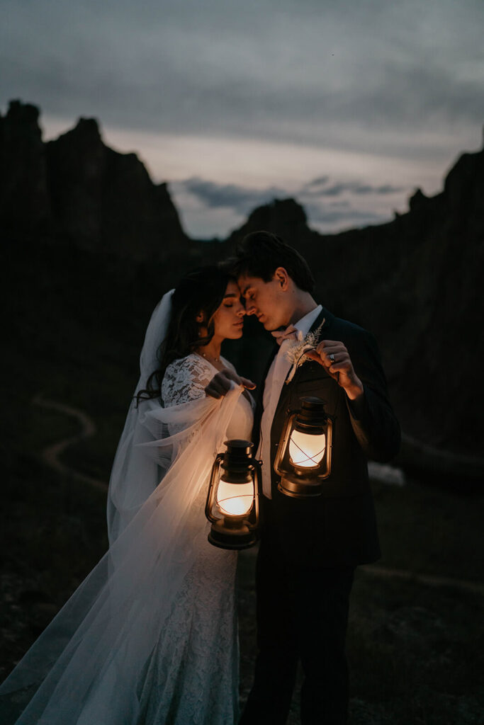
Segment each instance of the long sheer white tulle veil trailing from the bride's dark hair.
[{"label": "long sheer white tulle veil trailing from the bride's dark hair", "polygon": [[[172,293],[149,321],[136,392],[157,368]],[[17,724],[138,721],[142,672],[201,543],[190,506],[241,392],[167,408],[131,402],[110,478],[110,548],[1,685],[20,703]]]}]

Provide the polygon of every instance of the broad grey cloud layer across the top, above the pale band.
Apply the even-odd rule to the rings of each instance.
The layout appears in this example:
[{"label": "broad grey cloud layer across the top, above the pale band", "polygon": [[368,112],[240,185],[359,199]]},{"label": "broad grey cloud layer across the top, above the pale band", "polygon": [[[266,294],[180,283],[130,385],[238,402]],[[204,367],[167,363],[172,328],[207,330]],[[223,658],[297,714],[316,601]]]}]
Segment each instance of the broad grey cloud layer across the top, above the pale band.
[{"label": "broad grey cloud layer across the top, above the pale band", "polygon": [[3,7],[2,96],[50,115],[406,158],[484,117],[482,0]]}]

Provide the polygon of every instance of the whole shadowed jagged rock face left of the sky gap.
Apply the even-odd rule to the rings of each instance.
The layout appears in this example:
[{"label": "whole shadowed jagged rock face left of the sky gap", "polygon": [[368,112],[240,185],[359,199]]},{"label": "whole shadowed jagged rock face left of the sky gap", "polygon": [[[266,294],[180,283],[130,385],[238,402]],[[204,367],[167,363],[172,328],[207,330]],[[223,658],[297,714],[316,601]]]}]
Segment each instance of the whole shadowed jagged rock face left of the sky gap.
[{"label": "whole shadowed jagged rock face left of the sky gap", "polygon": [[136,154],[106,146],[94,119],[44,144],[38,109],[12,101],[0,119],[0,159],[4,228],[138,261],[192,246],[166,184],[153,183]]}]

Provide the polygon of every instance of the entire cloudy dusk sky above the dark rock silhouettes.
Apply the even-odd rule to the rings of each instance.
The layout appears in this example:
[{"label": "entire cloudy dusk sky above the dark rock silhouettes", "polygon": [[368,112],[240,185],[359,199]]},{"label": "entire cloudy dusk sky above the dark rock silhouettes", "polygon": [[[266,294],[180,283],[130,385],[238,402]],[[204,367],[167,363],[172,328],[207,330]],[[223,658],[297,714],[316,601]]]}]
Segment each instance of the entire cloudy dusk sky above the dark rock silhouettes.
[{"label": "entire cloudy dusk sky above the dark rock silhouettes", "polygon": [[484,0],[1,0],[0,109],[97,117],[192,236],[286,196],[335,231],[480,148],[483,28]]}]

